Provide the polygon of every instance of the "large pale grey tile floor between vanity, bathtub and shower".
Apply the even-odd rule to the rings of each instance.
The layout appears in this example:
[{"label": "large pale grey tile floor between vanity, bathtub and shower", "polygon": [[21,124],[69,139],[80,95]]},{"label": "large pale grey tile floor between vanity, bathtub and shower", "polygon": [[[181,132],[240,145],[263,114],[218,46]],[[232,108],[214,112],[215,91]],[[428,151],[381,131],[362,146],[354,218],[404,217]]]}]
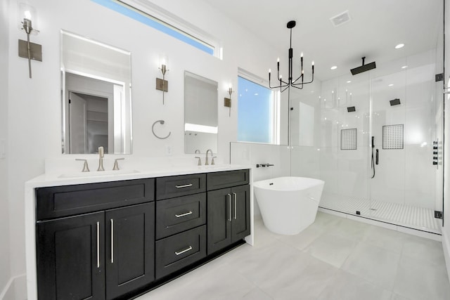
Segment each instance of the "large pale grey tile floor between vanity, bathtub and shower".
[{"label": "large pale grey tile floor between vanity, bathtub and shower", "polygon": [[138,299],[448,300],[450,284],[440,242],[319,212],[294,236],[256,220],[254,247]]}]

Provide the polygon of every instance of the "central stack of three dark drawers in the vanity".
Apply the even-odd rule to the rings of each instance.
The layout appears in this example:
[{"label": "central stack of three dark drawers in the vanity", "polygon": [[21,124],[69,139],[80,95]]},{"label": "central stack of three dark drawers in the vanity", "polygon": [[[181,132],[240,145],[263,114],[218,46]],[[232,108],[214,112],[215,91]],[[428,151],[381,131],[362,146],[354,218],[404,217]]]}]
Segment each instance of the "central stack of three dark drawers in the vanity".
[{"label": "central stack of three dark drawers in the vanity", "polygon": [[206,174],[156,179],[156,279],[206,257]]}]

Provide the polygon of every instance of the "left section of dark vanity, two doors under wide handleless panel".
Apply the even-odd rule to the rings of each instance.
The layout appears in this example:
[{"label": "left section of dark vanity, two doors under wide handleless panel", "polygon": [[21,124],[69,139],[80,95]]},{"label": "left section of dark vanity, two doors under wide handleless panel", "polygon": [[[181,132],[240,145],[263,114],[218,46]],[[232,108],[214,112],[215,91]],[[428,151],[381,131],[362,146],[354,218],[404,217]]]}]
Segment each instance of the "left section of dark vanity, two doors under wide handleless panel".
[{"label": "left section of dark vanity, two doors under wide handleless panel", "polygon": [[[129,183],[143,192],[141,201],[151,202],[37,221],[39,299],[115,299],[155,280],[154,179]],[[114,188],[120,187],[129,190],[123,181],[115,183]],[[60,188],[38,190],[38,206],[40,193],[53,193],[54,197],[79,192],[79,185],[65,186],[64,192]],[[89,190],[93,185],[84,188]],[[105,197],[101,184],[94,188],[98,197]],[[108,195],[111,184],[103,188]],[[108,202],[96,201],[101,205]]]}]

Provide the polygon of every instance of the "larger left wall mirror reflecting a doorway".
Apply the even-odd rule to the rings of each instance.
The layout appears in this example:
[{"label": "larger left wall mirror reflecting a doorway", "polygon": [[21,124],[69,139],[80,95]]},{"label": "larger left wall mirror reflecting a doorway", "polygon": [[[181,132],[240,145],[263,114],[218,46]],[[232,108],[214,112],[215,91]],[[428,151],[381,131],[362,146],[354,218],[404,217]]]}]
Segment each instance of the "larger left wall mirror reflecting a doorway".
[{"label": "larger left wall mirror reflecting a doorway", "polygon": [[62,152],[131,154],[131,53],[61,30]]}]

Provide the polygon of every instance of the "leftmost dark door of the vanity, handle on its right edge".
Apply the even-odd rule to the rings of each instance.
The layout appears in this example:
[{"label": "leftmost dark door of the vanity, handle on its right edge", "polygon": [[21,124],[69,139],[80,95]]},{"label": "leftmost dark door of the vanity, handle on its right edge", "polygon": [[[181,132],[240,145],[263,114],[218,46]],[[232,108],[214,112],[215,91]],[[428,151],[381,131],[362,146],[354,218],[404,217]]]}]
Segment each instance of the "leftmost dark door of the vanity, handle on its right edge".
[{"label": "leftmost dark door of the vanity, handle on its right edge", "polygon": [[105,299],[105,214],[37,223],[38,298]]}]

